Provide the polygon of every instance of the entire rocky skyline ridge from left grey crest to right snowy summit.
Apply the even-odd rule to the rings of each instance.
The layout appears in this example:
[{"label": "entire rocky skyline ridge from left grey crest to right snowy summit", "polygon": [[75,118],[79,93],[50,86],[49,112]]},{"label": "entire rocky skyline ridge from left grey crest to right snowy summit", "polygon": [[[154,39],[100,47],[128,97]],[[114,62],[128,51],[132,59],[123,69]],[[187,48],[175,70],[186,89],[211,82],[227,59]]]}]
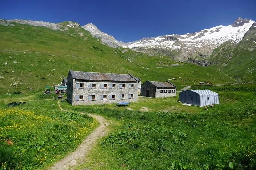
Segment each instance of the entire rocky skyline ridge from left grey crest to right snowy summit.
[{"label": "entire rocky skyline ridge from left grey crest to right snowy summit", "polygon": [[172,59],[181,62],[208,66],[212,64],[212,62],[207,62],[207,58],[213,53],[215,48],[223,44],[226,44],[226,46],[236,46],[237,43],[243,39],[245,33],[252,27],[254,21],[238,17],[233,24],[228,26],[220,25],[184,35],[172,34],[151,38],[143,37],[140,40],[129,43],[116,40],[113,36],[100,31],[92,23],[80,26],[80,24],[74,21],[66,21],[56,24],[43,21],[0,19],[0,24],[2,25],[12,26],[15,25],[15,23],[45,26],[60,31],[65,31],[71,28],[83,28],[89,31],[92,36],[99,38],[103,44],[110,47],[130,48],[138,52],[160,53],[169,55]]}]

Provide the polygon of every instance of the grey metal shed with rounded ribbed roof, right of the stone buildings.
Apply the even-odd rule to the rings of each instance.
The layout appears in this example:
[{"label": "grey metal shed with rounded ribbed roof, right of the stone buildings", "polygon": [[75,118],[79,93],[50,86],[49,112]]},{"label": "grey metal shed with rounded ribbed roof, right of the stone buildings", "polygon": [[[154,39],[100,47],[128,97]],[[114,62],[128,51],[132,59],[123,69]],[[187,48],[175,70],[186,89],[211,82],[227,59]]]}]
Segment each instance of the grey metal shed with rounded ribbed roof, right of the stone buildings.
[{"label": "grey metal shed with rounded ribbed roof, right of the stone buildings", "polygon": [[220,104],[218,93],[211,90],[186,90],[180,92],[179,101],[196,106]]}]

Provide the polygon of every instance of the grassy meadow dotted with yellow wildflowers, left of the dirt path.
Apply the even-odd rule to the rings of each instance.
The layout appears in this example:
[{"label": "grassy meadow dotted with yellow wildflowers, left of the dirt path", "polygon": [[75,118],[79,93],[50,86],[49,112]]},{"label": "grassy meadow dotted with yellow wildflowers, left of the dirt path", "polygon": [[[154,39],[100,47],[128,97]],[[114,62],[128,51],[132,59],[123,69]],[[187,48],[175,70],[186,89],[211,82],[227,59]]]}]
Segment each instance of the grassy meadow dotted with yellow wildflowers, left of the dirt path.
[{"label": "grassy meadow dotted with yellow wildflowers, left of the dirt path", "polygon": [[98,122],[59,110],[57,101],[0,106],[0,169],[41,169],[76,149]]}]

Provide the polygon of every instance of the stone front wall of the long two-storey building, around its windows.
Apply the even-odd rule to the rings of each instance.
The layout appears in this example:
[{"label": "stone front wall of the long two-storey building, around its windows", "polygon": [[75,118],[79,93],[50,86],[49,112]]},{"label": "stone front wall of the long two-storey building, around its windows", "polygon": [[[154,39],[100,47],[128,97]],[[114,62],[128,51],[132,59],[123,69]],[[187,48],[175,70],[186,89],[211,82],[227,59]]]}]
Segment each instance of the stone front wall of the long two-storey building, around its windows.
[{"label": "stone front wall of the long two-storey building, around its windows", "polygon": [[[69,79],[68,79],[69,82]],[[84,88],[76,88],[76,83],[84,84]],[[89,88],[89,84],[96,84],[96,88]],[[107,88],[100,88],[101,84],[107,84]],[[110,84],[116,84],[116,88],[109,88]],[[119,88],[120,84],[124,84],[125,88]],[[134,88],[129,88],[129,84],[133,84]],[[138,101],[138,84],[134,83],[114,83],[114,82],[83,82],[73,81],[72,86],[72,105],[97,105],[110,104],[118,102],[137,102]],[[119,99],[119,95],[124,94],[124,99]],[[129,99],[129,94],[133,94],[133,99]],[[95,100],[89,100],[89,96],[95,95]],[[106,100],[100,100],[100,95],[107,95]],[[115,99],[109,99],[109,95],[115,95]],[[83,100],[76,100],[76,96],[83,96]],[[69,101],[69,100],[68,100]]]}]

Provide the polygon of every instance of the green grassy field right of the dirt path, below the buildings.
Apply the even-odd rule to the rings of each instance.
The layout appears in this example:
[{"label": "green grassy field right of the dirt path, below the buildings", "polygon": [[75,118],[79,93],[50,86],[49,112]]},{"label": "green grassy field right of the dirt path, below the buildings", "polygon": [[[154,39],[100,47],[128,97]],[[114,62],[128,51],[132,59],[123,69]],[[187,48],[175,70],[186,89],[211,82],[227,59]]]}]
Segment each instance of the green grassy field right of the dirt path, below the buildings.
[{"label": "green grassy field right of the dirt path, below the buildings", "polygon": [[[253,169],[255,88],[255,84],[209,87],[220,98],[220,105],[209,110],[183,106],[175,102],[177,98],[143,97],[130,107],[148,107],[149,112],[61,104],[122,122],[99,141],[80,169]],[[163,112],[164,105],[176,107]]]}]

